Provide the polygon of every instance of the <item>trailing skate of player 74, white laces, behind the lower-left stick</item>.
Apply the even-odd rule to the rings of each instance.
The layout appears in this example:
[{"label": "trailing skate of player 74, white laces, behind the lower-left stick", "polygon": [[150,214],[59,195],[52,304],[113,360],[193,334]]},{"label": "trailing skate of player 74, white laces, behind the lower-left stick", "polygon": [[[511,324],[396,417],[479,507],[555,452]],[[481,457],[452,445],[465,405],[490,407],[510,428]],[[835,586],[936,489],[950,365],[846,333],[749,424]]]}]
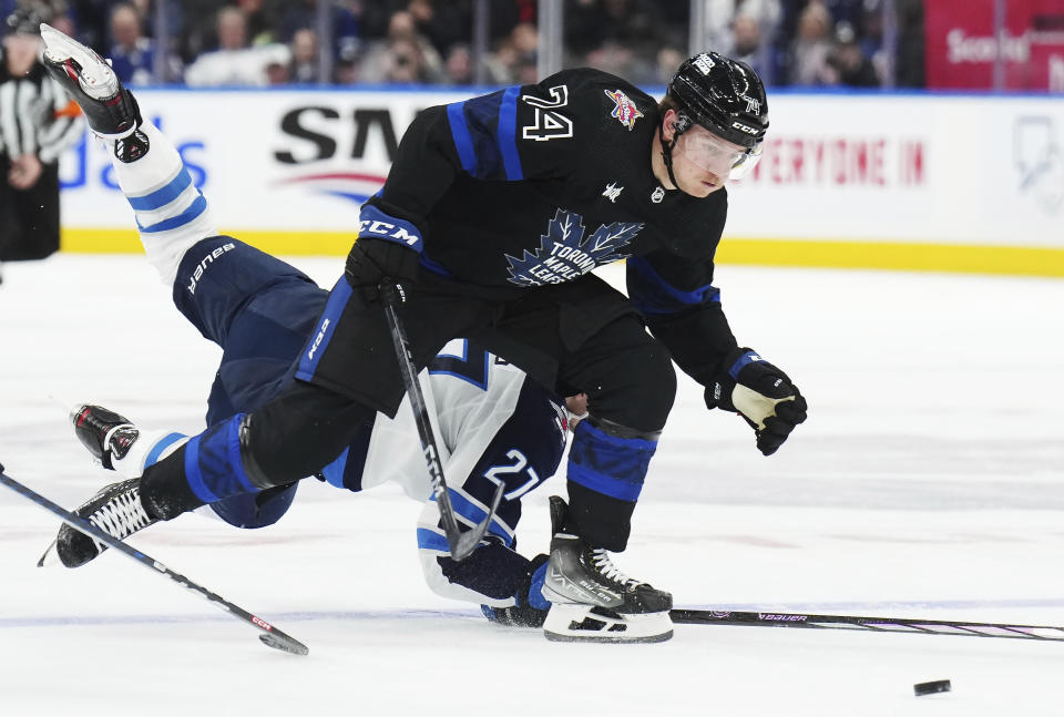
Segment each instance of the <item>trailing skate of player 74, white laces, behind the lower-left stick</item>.
[{"label": "trailing skate of player 74, white laces, behind the lower-left stick", "polygon": [[[158,522],[141,505],[139,478],[112,483],[79,508],[75,514],[119,540]],[[66,567],[78,567],[108,550],[103,543],[63,524],[54,542],[55,553]],[[48,553],[45,553],[47,557]],[[41,559],[41,563],[44,557]]]}]

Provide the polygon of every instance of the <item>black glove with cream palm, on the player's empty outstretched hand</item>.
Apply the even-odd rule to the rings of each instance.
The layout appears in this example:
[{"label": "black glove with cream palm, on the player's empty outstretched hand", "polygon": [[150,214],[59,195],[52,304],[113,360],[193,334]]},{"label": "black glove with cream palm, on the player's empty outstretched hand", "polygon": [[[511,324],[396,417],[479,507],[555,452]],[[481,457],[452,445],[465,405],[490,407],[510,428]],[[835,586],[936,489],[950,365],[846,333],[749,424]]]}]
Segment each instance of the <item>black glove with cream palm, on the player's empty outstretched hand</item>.
[{"label": "black glove with cream palm, on the player's empty outstretched hand", "polygon": [[748,348],[732,351],[725,366],[727,372],[706,387],[706,406],[741,416],[758,450],[771,455],[806,420],[806,399],[786,373]]}]

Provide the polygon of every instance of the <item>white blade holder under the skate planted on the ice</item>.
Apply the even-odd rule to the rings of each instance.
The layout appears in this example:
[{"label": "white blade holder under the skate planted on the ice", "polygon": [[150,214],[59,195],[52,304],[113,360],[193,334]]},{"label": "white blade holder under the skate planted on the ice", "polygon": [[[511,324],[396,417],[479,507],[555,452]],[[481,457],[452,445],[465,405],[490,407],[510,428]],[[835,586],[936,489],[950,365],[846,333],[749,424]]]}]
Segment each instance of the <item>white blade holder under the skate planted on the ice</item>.
[{"label": "white blade holder under the skate planted on the ice", "polygon": [[663,643],[673,637],[667,612],[622,615],[591,605],[554,604],[543,636],[556,643]]}]

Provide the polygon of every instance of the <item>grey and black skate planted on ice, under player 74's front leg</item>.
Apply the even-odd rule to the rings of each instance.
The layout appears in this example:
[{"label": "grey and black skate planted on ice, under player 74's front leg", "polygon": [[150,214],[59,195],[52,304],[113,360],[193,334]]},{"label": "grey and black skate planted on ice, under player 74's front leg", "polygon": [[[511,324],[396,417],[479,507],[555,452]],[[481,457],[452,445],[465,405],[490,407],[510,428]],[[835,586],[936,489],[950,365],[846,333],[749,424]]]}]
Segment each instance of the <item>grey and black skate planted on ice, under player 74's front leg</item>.
[{"label": "grey and black skate planted on ice, under player 74's front leg", "polygon": [[543,596],[551,610],[548,639],[562,642],[658,643],[673,636],[673,596],[618,571],[603,549],[566,532],[569,508],[551,496],[551,560]]}]

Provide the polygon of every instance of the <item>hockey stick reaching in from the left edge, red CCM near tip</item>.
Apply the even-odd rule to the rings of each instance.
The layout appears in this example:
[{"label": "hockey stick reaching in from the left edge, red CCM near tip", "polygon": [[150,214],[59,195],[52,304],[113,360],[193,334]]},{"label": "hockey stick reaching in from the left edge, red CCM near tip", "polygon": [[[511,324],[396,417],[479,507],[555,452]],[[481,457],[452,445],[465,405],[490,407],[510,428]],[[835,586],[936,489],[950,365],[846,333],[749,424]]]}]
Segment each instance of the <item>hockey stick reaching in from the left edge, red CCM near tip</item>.
[{"label": "hockey stick reaching in from the left edge, red CCM near tip", "polygon": [[262,631],[262,634],[259,634],[258,638],[263,641],[263,643],[265,643],[267,646],[273,647],[275,649],[280,649],[286,653],[291,653],[293,655],[306,655],[310,652],[309,648],[303,643],[300,643],[298,639],[277,629],[276,627],[267,623],[262,617],[253,615],[246,610],[237,605],[234,605],[233,603],[223,598],[221,595],[216,595],[215,593],[212,593],[205,587],[197,585],[196,583],[192,582],[184,575],[178,575],[174,571],[170,570],[168,567],[160,563],[154,557],[151,557],[150,555],[145,555],[141,551],[136,550],[135,547],[131,547],[130,545],[126,545],[120,540],[115,540],[110,534],[103,532],[102,530],[100,530],[89,521],[82,518],[79,518],[74,513],[71,513],[70,511],[48,500],[40,493],[37,493],[31,489],[27,488],[22,483],[18,482],[13,478],[4,473],[2,464],[0,464],[0,483],[3,483],[4,485],[13,490],[16,493],[19,493],[20,495],[23,495],[24,498],[30,499],[31,501],[33,501],[44,510],[51,511],[52,513],[58,515],[61,521],[63,521],[74,530],[80,531],[85,535],[89,535],[93,540],[100,541],[101,543],[105,544],[108,547],[114,549],[120,553],[123,553],[129,557],[132,557],[133,560],[135,560],[141,565],[144,565],[145,567],[150,567],[157,571],[158,573],[161,573],[162,575],[165,575],[166,577],[174,581],[182,587],[191,590],[193,593],[200,595],[201,597],[206,598],[207,602],[209,602],[212,605],[221,610],[224,610],[225,612],[233,615],[237,619],[242,619],[248,625],[250,625],[252,627],[255,627],[256,629]]}]

